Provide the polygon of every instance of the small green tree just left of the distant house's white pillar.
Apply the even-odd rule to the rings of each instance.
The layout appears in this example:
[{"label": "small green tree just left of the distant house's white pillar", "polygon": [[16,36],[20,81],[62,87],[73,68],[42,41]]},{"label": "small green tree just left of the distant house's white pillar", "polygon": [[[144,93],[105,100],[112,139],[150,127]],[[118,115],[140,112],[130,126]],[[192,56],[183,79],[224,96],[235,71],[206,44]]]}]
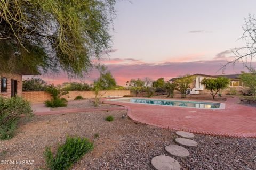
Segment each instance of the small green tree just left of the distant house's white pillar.
[{"label": "small green tree just left of the distant house's white pillar", "polygon": [[190,88],[189,84],[194,80],[194,76],[186,74],[177,78],[174,83],[177,85],[177,90],[181,92],[181,98],[186,98],[186,90]]}]

